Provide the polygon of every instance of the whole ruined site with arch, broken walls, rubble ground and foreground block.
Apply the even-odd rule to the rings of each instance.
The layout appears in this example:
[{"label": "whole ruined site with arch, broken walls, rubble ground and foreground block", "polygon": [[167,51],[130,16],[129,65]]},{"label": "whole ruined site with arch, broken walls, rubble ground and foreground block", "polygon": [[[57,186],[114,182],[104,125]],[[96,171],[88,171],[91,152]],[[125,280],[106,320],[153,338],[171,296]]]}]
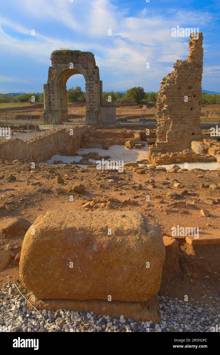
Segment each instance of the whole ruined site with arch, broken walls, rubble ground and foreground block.
[{"label": "whole ruined site with arch, broken walls, rubble ground and foreground block", "polygon": [[[201,123],[203,34],[188,46],[145,119],[117,119],[94,54],[55,50],[44,123],[1,121],[1,331],[199,333],[220,322],[220,140]],[[84,122],[68,113],[75,74]]]}]

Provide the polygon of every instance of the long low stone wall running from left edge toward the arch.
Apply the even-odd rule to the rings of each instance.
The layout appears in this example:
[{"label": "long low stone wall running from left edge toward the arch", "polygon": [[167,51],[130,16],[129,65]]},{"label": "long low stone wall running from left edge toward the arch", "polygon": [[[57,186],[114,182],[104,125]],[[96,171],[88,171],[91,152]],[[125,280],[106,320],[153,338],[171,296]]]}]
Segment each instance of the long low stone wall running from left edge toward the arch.
[{"label": "long low stone wall running from left edge toward the arch", "polygon": [[[70,131],[72,130],[72,131]],[[88,131],[88,126],[72,126],[68,129],[56,129],[28,141],[11,138],[1,141],[0,159],[7,162],[45,162],[55,152],[71,155],[80,148],[82,136]],[[70,135],[70,132],[73,133]]]}]

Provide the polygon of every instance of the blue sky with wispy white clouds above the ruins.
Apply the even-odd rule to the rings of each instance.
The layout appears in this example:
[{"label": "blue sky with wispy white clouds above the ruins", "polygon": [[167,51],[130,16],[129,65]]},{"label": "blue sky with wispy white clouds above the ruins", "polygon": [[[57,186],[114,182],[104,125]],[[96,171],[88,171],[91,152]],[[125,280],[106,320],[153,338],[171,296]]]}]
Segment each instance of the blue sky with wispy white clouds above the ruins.
[{"label": "blue sky with wispy white clouds above the ruins", "polygon": [[[0,93],[42,92],[50,54],[63,46],[94,53],[104,91],[158,91],[188,56],[188,37],[171,37],[176,26],[203,32],[202,87],[220,92],[219,20],[219,0],[0,1]],[[85,88],[82,75],[67,82],[77,85]]]}]

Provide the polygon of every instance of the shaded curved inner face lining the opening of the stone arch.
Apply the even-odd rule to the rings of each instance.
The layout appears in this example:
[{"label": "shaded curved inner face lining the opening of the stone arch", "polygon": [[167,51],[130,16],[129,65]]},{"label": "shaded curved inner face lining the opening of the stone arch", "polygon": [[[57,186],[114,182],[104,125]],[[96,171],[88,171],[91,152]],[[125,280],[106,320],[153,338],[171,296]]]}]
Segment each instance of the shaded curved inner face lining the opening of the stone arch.
[{"label": "shaded curved inner face lining the opening of the stone arch", "polygon": [[[81,74],[81,73],[75,69],[68,69],[68,70],[63,71],[57,80],[59,121],[62,121],[62,122],[68,121],[67,80],[72,75],[75,75],[75,74]],[[85,79],[85,77],[84,77],[84,79]],[[84,88],[82,89],[82,91],[84,91]],[[86,80],[85,80],[85,93],[86,93],[86,110],[87,110],[88,92],[86,90]]]}]

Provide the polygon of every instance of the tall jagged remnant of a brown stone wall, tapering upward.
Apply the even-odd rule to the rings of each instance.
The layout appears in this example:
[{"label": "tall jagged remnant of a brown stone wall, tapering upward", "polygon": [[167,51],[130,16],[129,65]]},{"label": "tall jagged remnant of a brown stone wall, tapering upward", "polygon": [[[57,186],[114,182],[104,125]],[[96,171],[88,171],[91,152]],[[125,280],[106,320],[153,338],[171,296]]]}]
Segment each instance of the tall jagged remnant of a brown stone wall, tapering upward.
[{"label": "tall jagged remnant of a brown stone wall, tapering upward", "polygon": [[156,103],[157,140],[156,145],[150,147],[150,154],[190,149],[192,140],[202,138],[202,41],[202,32],[198,37],[191,33],[188,58],[177,60],[174,71],[160,83],[162,85]]}]

